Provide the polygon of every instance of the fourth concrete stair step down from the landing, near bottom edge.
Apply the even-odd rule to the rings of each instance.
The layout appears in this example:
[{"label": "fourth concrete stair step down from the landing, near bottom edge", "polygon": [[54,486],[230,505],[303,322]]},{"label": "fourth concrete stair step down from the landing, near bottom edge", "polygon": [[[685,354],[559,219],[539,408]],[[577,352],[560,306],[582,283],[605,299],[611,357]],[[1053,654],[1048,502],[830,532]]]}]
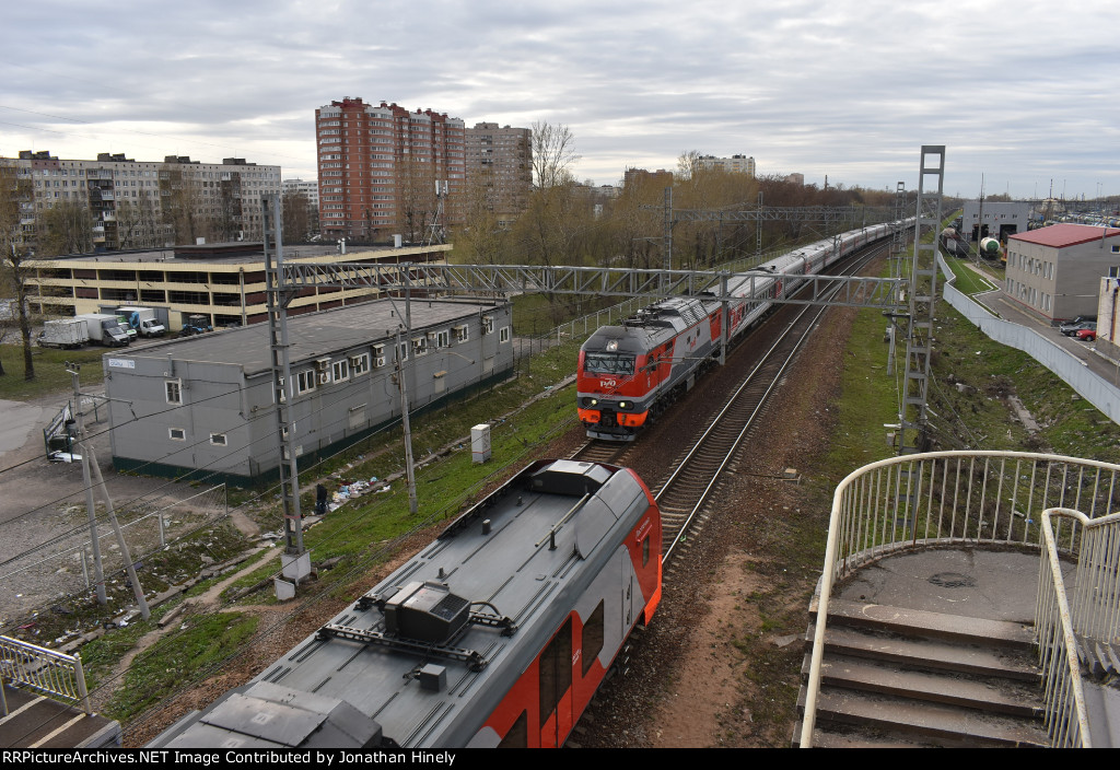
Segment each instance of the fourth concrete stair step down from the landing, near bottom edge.
[{"label": "fourth concrete stair step down from the landing, near bottom edge", "polygon": [[827,721],[970,746],[1049,745],[1044,730],[1011,716],[832,687],[822,688],[816,698],[816,723],[823,727]]}]

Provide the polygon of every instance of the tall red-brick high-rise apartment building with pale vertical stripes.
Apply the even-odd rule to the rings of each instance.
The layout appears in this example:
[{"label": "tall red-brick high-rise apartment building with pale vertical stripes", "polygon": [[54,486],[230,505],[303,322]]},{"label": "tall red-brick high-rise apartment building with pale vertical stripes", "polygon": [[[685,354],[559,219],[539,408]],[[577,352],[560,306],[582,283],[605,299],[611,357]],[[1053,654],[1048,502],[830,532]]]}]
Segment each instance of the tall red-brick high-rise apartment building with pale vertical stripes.
[{"label": "tall red-brick high-rise apartment building with pale vertical stripes", "polygon": [[346,97],[316,110],[323,234],[421,241],[456,224],[461,215],[437,182],[452,198],[463,189],[464,132],[458,118],[395,103]]}]

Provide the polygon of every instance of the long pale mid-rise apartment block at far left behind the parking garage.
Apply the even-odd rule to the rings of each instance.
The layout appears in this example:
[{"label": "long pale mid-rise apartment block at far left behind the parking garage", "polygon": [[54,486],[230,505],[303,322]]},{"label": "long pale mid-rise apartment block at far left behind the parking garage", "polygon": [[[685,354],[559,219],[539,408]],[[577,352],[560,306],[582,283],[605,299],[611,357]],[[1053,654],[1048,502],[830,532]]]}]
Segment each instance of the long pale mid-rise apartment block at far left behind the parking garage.
[{"label": "long pale mid-rise apartment block at far left behind the parking garage", "polygon": [[[21,151],[13,163],[30,180],[27,243],[41,242],[48,212],[77,204],[92,218],[95,251],[155,248],[207,241],[260,240],[261,199],[280,190],[280,167],[258,166],[243,158],[221,163],[167,156],[162,162],[136,161],[100,153],[96,160],[67,160],[48,151]],[[82,251],[85,251],[83,248]]]}]

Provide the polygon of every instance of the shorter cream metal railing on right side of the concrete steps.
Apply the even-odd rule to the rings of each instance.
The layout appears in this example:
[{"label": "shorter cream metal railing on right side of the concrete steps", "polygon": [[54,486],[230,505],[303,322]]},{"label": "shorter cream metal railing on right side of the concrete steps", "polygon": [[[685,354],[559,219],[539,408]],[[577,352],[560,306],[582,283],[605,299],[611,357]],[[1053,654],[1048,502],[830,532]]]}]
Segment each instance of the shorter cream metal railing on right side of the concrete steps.
[{"label": "shorter cream metal railing on right side of the concrete steps", "polygon": [[[1071,595],[1058,562],[1062,551],[1053,519],[1079,530]],[[1120,631],[1120,514],[1092,519],[1070,508],[1043,511],[1044,553],[1038,573],[1035,638],[1045,685],[1046,730],[1051,744],[1092,748],[1081,682],[1077,637],[1111,644]]]}]

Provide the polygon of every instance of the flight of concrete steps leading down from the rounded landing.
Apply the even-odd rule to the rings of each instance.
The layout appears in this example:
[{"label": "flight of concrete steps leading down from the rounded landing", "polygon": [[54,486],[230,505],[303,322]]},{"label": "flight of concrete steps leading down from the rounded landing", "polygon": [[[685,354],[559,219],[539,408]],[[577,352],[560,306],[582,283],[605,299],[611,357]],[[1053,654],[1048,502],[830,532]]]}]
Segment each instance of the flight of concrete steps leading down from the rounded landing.
[{"label": "flight of concrete steps leading down from the rounded landing", "polygon": [[816,746],[1049,745],[1029,626],[832,599],[824,639]]}]

